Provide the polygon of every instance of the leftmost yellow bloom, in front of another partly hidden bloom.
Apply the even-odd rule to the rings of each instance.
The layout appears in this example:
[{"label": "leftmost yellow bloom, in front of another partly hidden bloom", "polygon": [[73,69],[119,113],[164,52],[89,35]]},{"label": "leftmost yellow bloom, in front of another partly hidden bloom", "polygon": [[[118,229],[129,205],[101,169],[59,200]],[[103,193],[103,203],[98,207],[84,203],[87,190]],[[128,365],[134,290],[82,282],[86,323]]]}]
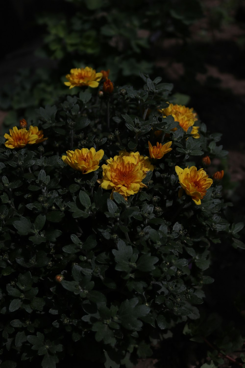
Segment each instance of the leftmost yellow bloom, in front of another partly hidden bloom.
[{"label": "leftmost yellow bloom, in front of another partly hidden bloom", "polygon": [[36,143],[38,136],[36,134],[32,134],[26,128],[18,129],[17,127],[13,127],[10,129],[10,134],[5,133],[4,138],[7,141],[4,143],[7,148],[23,148],[27,144]]}]

